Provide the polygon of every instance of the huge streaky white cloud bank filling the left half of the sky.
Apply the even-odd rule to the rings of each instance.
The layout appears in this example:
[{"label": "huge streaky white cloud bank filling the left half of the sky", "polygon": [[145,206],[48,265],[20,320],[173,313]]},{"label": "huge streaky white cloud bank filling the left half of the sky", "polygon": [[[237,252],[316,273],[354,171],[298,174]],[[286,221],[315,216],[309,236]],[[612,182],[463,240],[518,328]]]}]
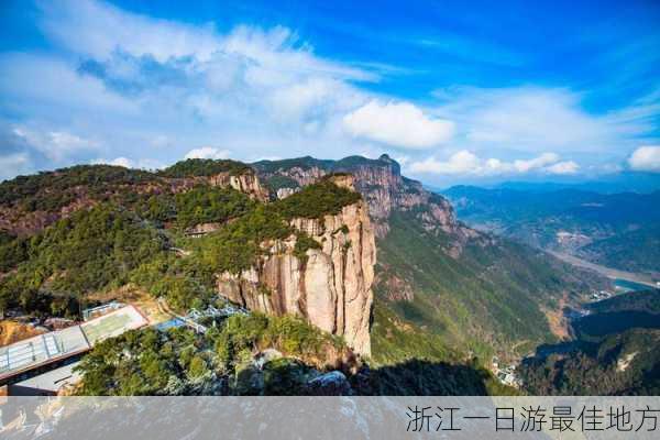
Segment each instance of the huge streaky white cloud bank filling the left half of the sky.
[{"label": "huge streaky white cloud bank filling the left half of the sky", "polygon": [[244,160],[349,155],[363,143],[342,118],[370,99],[354,81],[383,72],[318,56],[283,26],[221,32],[94,0],[43,2],[36,19],[53,50],[0,54],[0,97],[3,114],[23,114],[23,134],[36,133],[25,138],[47,154],[37,168],[95,157],[170,163],[216,143],[240,145]]}]

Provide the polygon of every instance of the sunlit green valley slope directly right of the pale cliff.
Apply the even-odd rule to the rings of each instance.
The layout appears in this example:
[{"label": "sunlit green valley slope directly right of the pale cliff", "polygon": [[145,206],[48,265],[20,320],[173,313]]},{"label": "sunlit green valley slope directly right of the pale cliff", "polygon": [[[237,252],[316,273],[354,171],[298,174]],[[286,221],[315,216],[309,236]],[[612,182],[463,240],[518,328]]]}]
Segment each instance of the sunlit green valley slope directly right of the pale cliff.
[{"label": "sunlit green valley slope directly right of the pale cliff", "polygon": [[[468,346],[483,359],[493,348],[510,351],[516,340],[525,341],[516,346],[519,353],[552,342],[541,309],[556,308],[564,294],[578,299],[588,290],[588,276],[580,278],[516,243],[472,244],[454,258],[447,249],[451,240],[425,230],[414,213],[395,212],[389,224],[391,232],[378,241],[380,271],[404,280],[414,293],[411,300],[395,300],[391,307],[442,334],[446,343]],[[380,290],[387,288],[376,286]]]}]

